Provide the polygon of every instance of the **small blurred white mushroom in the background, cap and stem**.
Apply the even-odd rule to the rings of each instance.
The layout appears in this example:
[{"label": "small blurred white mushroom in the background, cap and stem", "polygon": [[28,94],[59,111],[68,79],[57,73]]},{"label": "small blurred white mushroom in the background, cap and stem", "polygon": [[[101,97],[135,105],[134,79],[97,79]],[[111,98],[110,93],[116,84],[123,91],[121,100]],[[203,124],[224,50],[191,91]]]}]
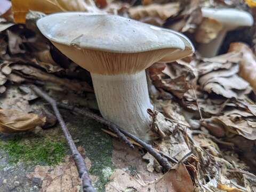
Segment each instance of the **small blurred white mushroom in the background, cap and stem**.
[{"label": "small blurred white mushroom in the background, cap and stem", "polygon": [[203,57],[214,57],[218,54],[223,39],[228,31],[238,27],[253,25],[252,15],[237,9],[202,8],[202,14],[203,17],[217,20],[222,25],[222,29],[217,38],[213,39],[210,43],[202,43],[199,45],[198,51]]}]

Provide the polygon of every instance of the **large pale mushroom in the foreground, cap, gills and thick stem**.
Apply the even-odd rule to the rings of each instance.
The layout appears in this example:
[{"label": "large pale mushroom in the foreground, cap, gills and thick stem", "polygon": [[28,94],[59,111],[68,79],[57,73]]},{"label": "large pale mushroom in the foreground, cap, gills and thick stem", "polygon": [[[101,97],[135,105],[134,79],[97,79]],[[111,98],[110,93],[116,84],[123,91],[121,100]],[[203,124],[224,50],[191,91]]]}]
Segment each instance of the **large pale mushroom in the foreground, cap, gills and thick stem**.
[{"label": "large pale mushroom in the foreground, cap, gills and thick stem", "polygon": [[193,53],[187,37],[116,15],[57,13],[37,21],[42,34],[90,71],[101,115],[149,141],[153,109],[145,69]]}]

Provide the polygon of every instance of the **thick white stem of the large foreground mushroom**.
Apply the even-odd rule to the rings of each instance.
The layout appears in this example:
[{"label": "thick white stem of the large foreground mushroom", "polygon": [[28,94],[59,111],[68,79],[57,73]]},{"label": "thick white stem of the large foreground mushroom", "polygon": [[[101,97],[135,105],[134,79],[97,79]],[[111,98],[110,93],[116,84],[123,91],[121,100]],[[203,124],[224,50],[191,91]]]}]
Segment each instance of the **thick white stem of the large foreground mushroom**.
[{"label": "thick white stem of the large foreground mushroom", "polygon": [[137,74],[93,74],[92,82],[101,115],[137,137],[150,140],[152,109],[145,70]]}]

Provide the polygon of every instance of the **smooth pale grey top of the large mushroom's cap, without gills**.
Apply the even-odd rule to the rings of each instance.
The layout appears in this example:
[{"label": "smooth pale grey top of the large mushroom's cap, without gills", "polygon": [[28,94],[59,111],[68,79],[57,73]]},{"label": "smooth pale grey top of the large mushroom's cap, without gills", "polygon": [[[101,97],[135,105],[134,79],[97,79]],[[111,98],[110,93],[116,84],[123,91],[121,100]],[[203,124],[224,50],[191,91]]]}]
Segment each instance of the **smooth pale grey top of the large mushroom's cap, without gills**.
[{"label": "smooth pale grey top of the large mushroom's cap, without gills", "polygon": [[186,48],[177,32],[117,15],[56,13],[39,19],[37,26],[51,41],[83,49],[135,53]]}]

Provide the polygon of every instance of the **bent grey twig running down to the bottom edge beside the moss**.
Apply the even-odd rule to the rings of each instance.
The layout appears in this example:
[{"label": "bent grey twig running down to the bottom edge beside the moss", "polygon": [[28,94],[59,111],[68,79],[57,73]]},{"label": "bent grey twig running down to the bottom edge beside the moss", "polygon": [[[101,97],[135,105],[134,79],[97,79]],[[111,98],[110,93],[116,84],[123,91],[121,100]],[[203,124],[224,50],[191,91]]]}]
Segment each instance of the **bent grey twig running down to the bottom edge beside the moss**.
[{"label": "bent grey twig running down to the bottom edge beside the moss", "polygon": [[86,168],[84,158],[82,155],[78,152],[75,143],[67,129],[67,126],[65,122],[63,121],[63,118],[60,114],[60,111],[57,107],[57,102],[52,99],[49,95],[47,95],[45,92],[40,90],[37,86],[35,85],[30,85],[30,88],[39,96],[42,97],[44,100],[50,103],[52,106],[54,113],[60,123],[61,129],[65,135],[65,138],[68,142],[69,148],[71,150],[71,153],[73,155],[74,161],[76,163],[77,171],[79,173],[79,177],[82,179],[82,185],[83,185],[83,191],[84,192],[96,192],[96,190],[92,186],[92,181],[89,177],[88,170]]}]

